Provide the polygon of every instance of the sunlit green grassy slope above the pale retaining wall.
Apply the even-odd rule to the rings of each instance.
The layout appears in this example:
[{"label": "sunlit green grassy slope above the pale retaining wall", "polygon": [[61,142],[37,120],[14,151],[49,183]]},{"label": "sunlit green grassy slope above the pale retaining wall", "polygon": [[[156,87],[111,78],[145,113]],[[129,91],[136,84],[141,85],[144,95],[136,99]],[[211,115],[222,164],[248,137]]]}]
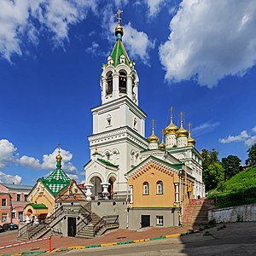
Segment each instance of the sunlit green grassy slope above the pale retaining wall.
[{"label": "sunlit green grassy slope above the pale retaining wall", "polygon": [[209,191],[207,198],[214,199],[218,208],[256,203],[256,166],[219,184],[217,189]]}]

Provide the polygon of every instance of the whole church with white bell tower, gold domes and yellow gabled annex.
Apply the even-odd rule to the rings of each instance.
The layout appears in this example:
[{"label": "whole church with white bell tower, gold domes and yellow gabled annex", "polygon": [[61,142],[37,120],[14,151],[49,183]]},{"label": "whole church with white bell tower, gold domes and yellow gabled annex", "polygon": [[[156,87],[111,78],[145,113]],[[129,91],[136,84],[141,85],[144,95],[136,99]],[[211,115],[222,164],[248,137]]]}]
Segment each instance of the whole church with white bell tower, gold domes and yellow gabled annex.
[{"label": "whole church with white bell tower, gold domes and yellow gabled annex", "polygon": [[154,121],[151,136],[145,136],[147,115],[139,107],[139,76],[125,50],[123,34],[118,21],[116,43],[102,66],[102,102],[91,109],[90,160],[84,165],[86,195],[92,200],[126,199],[129,227],[134,229],[140,223],[177,225],[173,216],[182,213],[181,207],[189,199],[205,196],[201,154],[191,137],[191,125],[189,131],[183,127],[183,113],[180,127],[174,125],[173,108],[162,142],[154,134]]}]

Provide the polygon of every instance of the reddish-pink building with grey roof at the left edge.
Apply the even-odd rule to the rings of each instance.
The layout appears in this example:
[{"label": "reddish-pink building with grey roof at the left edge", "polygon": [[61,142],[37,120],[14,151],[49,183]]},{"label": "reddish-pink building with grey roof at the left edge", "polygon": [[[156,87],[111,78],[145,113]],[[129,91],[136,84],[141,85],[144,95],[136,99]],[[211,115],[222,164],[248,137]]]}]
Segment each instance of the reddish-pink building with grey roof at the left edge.
[{"label": "reddish-pink building with grey roof at the left edge", "polygon": [[23,209],[32,186],[0,183],[0,224],[24,220]]}]

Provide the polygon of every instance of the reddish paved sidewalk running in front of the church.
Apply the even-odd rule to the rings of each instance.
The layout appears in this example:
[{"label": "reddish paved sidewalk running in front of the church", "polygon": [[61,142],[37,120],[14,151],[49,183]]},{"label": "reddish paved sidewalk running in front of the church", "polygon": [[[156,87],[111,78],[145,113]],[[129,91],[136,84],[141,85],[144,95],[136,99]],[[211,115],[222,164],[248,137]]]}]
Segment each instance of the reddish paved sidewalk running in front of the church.
[{"label": "reddish paved sidewalk running in front of the church", "polygon": [[[116,241],[130,241],[146,239],[155,236],[166,236],[189,231],[189,227],[168,227],[168,228],[145,228],[140,231],[134,230],[113,230],[103,236],[93,239],[83,239],[75,237],[52,237],[52,249],[72,246],[86,246],[101,243],[110,243]],[[17,233],[7,232],[6,236],[0,236],[0,246],[14,244],[19,242],[16,239]],[[12,247],[0,250],[0,254],[15,254],[27,251],[48,251],[49,241],[38,241],[32,244],[26,244],[19,247]]]}]

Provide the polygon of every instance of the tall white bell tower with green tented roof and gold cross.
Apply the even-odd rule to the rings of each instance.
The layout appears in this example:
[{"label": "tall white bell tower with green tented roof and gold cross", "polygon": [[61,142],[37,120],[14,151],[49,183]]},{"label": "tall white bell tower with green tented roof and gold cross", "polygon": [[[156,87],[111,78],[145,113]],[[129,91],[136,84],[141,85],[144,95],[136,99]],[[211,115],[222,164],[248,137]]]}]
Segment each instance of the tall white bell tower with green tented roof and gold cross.
[{"label": "tall white bell tower with green tented roof and gold cross", "polygon": [[146,113],[138,106],[139,79],[135,61],[130,60],[122,42],[121,13],[121,10],[117,13],[116,42],[107,63],[102,65],[102,102],[91,109],[90,161],[84,170],[86,183],[97,187],[95,194],[103,188],[106,194],[110,186],[109,193],[125,196],[125,173],[137,165],[140,152],[148,148],[148,141],[145,138]]}]

